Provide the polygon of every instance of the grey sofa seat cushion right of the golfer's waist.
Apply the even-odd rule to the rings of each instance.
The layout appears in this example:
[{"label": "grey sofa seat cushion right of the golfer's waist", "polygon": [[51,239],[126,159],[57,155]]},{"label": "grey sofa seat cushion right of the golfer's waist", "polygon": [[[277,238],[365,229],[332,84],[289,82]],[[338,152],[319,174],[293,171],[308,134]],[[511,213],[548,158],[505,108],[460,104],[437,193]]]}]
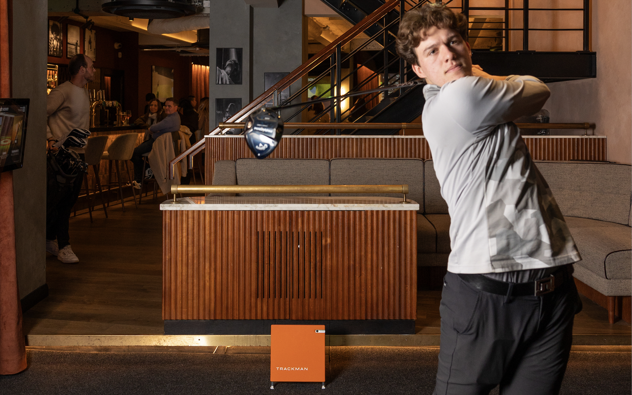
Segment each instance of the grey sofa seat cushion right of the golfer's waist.
[{"label": "grey sofa seat cushion right of the golfer's waist", "polygon": [[[582,260],[576,265],[607,279],[632,278],[632,228],[595,219],[565,217]],[[597,289],[599,291],[599,289]]]}]

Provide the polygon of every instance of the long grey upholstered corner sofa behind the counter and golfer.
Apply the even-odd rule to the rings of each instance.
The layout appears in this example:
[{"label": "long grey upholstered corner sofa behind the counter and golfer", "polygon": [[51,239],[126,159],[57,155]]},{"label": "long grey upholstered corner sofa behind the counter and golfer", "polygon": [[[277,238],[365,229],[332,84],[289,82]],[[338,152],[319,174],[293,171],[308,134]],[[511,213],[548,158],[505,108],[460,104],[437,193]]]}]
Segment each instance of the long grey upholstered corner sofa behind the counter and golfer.
[{"label": "long grey upholstered corner sofa behind the counter and golfer", "polygon": [[[621,297],[632,294],[632,166],[595,162],[537,162],[537,166],[566,216],[583,257],[575,265],[574,273],[580,284],[586,286],[580,287],[580,291],[584,289],[584,293],[593,294],[596,291],[603,296],[607,303],[587,295],[609,308],[613,322]],[[213,185],[274,184],[408,184],[408,198],[420,204],[418,279],[427,286],[441,284],[450,253],[450,216],[432,160],[238,159],[215,162]]]}]

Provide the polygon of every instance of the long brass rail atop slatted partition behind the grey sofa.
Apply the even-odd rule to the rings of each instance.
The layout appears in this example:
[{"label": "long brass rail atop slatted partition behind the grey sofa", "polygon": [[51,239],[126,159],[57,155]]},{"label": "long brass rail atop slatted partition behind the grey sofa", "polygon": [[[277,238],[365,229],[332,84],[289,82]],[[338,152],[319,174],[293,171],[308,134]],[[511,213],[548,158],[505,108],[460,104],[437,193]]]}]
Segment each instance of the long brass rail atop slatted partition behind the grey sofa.
[{"label": "long brass rail atop slatted partition behind the grey sofa", "polygon": [[[243,122],[221,122],[221,129],[243,129]],[[284,123],[288,129],[423,129],[421,123]],[[520,129],[588,129],[590,124],[584,123],[516,123]]]}]

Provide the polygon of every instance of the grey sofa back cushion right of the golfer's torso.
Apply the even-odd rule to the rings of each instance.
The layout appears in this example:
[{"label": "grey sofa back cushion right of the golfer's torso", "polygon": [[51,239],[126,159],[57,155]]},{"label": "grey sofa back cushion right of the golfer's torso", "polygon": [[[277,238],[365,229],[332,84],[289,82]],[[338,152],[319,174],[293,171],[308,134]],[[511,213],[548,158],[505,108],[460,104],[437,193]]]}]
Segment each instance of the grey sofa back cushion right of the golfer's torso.
[{"label": "grey sofa back cushion right of the golfer's torso", "polygon": [[562,214],[629,224],[632,166],[595,162],[536,162]]}]

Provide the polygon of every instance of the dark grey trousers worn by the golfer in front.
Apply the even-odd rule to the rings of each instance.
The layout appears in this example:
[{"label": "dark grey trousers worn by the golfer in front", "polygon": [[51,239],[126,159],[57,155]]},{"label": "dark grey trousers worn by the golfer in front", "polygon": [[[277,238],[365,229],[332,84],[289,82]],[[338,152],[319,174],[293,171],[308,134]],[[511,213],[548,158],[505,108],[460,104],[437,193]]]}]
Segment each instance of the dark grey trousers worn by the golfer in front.
[{"label": "dark grey trousers worn by the golfer in front", "polygon": [[479,291],[447,272],[435,395],[557,394],[578,311],[572,276],[542,296]]}]

